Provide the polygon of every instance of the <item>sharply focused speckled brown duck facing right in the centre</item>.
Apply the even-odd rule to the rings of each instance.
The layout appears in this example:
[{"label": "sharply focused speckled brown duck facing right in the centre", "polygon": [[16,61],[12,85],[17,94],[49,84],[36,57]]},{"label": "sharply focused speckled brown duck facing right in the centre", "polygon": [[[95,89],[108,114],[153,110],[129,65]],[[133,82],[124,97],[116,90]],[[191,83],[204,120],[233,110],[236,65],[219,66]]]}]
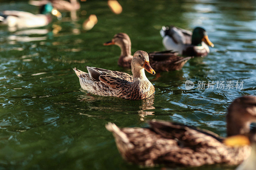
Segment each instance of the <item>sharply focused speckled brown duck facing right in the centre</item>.
[{"label": "sharply focused speckled brown duck facing right in the centre", "polygon": [[95,67],[86,67],[88,73],[74,68],[81,87],[100,96],[116,96],[124,99],[146,99],[155,93],[155,87],[145,75],[144,69],[151,74],[155,71],[149,65],[148,53],[136,51],[132,58],[132,75],[105,70]]}]

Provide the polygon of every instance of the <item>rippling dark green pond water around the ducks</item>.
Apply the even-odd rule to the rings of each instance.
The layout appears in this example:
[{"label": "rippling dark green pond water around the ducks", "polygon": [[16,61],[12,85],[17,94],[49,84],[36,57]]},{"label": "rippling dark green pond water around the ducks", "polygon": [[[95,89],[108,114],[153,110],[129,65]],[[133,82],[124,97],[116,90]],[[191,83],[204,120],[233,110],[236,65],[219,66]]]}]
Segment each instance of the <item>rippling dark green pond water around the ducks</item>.
[{"label": "rippling dark green pond water around the ducks", "polygon": [[[106,1],[88,0],[78,11],[78,21],[70,21],[68,13],[63,13],[63,21],[53,20],[62,28],[57,34],[52,33],[52,24],[39,28],[41,35],[9,32],[0,26],[0,169],[139,169],[121,158],[104,127],[107,122],[145,127],[146,120],[161,119],[225,136],[228,105],[241,95],[256,94],[255,1],[123,0],[120,4],[123,12],[115,15]],[[6,9],[37,11],[25,1],[1,2],[0,10]],[[90,14],[96,14],[98,23],[85,32],[81,24]],[[151,99],[101,97],[80,88],[74,67],[131,73],[117,65],[117,46],[102,45],[114,34],[127,33],[132,52],[164,50],[159,30],[168,24],[190,30],[204,26],[215,48],[206,58],[192,59],[182,70],[161,73],[157,80],[146,73],[156,88]],[[31,39],[38,37],[43,40]],[[242,90],[186,90],[186,80],[244,84]]]}]

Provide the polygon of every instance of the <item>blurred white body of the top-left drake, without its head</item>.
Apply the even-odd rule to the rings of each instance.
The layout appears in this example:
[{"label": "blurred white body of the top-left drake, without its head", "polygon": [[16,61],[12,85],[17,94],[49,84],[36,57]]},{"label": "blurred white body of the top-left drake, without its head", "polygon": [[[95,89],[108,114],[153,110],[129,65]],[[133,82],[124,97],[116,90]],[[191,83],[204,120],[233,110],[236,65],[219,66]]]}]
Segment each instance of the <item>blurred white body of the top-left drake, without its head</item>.
[{"label": "blurred white body of the top-left drake, without its head", "polygon": [[41,27],[49,24],[49,18],[44,14],[32,14],[26,11],[3,11],[3,14],[7,15],[3,23],[18,29]]}]

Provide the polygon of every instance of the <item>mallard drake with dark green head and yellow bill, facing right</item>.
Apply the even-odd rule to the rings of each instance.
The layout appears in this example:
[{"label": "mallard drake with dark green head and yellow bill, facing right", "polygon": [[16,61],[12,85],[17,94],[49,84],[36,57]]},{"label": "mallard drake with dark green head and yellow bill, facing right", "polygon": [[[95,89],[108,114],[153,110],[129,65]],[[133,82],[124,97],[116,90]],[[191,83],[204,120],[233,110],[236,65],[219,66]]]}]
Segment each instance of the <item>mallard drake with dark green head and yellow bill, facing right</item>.
[{"label": "mallard drake with dark green head and yellow bill, facing right", "polygon": [[191,33],[176,26],[163,26],[160,34],[164,47],[180,55],[205,57],[210,52],[208,46],[214,47],[202,27],[196,27]]}]

